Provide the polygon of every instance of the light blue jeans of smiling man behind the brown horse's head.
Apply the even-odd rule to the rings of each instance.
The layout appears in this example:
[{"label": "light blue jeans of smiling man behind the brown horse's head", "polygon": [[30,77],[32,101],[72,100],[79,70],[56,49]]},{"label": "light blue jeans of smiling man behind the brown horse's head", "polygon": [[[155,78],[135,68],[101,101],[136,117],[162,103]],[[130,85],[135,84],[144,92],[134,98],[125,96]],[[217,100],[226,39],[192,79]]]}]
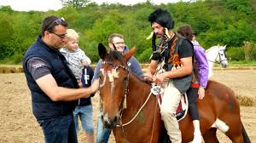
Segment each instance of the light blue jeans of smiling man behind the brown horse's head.
[{"label": "light blue jeans of smiling man behind the brown horse's head", "polygon": [[112,129],[103,128],[102,123],[102,112],[99,110],[97,119],[97,133],[96,133],[96,143],[108,143],[109,135]]}]

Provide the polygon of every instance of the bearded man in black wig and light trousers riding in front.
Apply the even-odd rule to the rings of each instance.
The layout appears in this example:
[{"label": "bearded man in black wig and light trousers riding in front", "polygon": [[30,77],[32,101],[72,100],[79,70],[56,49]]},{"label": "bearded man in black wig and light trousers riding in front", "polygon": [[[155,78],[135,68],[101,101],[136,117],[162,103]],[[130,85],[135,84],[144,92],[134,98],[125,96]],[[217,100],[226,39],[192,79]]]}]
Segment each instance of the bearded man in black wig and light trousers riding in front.
[{"label": "bearded man in black wig and light trousers riding in front", "polygon": [[[174,21],[166,10],[156,9],[148,20],[153,29],[149,75],[156,75],[152,76],[154,83],[164,89],[160,114],[167,134],[172,142],[180,143],[182,137],[175,113],[182,94],[186,93],[191,83],[193,47],[172,31]],[[155,38],[160,38],[157,46]]]}]

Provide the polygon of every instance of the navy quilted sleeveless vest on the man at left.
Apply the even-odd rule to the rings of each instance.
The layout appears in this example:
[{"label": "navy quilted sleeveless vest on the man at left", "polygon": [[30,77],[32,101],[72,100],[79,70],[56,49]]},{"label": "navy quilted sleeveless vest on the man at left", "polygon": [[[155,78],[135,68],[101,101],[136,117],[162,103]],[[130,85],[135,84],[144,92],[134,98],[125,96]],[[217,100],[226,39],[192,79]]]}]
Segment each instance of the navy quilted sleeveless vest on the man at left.
[{"label": "navy quilted sleeveless vest on the man at left", "polygon": [[[67,66],[65,57],[58,49],[51,49],[41,37],[27,49],[23,58],[23,69],[26,81],[32,93],[32,112],[38,120],[61,117],[73,113],[74,107],[78,104],[74,101],[53,101],[38,87],[30,72],[27,70],[27,60],[32,57],[43,59],[50,67],[51,75],[55,78],[60,87],[71,89],[79,88],[76,78]],[[47,84],[47,83],[46,83]]]}]

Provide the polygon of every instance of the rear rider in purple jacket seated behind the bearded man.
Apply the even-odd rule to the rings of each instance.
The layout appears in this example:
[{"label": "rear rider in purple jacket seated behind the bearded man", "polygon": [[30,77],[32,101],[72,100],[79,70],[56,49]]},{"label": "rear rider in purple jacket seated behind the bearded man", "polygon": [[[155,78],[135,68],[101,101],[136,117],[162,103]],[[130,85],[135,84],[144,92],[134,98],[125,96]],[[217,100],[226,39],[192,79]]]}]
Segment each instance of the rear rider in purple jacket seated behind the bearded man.
[{"label": "rear rider in purple jacket seated behind the bearded man", "polygon": [[[177,34],[182,37],[187,38],[192,41],[194,33],[191,26],[181,26],[177,28]],[[199,123],[199,115],[196,106],[197,95],[199,99],[203,99],[205,96],[205,89],[207,88],[208,83],[208,63],[207,56],[205,54],[205,49],[203,49],[198,43],[193,43],[194,46],[194,75],[189,88],[188,100],[189,100],[189,112],[191,114],[193,125],[194,125],[194,139],[192,143],[200,142],[201,143],[201,131]]]}]

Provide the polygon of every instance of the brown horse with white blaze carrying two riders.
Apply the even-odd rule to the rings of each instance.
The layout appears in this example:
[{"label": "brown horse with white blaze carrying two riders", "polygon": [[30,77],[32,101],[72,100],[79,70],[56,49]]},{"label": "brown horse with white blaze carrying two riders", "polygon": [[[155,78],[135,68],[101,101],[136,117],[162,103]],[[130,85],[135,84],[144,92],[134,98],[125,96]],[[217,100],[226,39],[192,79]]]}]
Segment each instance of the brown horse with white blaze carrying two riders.
[{"label": "brown horse with white blaze carrying two riders", "polygon": [[[126,62],[135,53],[110,51],[100,43],[102,58],[100,96],[102,122],[113,128],[116,142],[159,142],[163,128],[160,107],[150,85],[135,77]],[[206,96],[197,102],[201,133],[205,142],[218,142],[216,130],[220,129],[232,142],[249,142],[240,117],[240,107],[234,92],[224,84],[209,81]],[[193,140],[193,123],[189,114],[179,122],[183,142]]]}]

